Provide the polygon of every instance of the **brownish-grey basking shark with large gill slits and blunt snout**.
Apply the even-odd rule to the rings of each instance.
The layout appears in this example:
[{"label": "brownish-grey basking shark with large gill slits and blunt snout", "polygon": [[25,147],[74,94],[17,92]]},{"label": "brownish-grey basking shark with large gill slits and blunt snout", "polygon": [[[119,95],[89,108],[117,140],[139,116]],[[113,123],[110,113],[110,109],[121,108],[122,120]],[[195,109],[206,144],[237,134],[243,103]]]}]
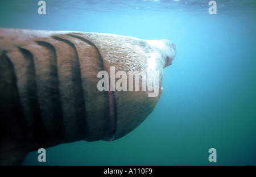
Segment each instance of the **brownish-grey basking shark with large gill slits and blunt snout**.
[{"label": "brownish-grey basking shark with large gill slits and blunt snout", "polygon": [[154,110],[176,50],[168,40],[0,28],[0,164],[125,136]]}]

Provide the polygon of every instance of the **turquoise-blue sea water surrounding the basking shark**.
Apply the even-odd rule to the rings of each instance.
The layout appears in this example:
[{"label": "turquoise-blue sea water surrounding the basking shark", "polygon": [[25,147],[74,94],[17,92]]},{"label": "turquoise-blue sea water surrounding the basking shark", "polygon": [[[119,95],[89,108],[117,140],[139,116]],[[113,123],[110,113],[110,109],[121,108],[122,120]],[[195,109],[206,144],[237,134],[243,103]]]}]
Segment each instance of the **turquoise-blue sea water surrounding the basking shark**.
[{"label": "turquoise-blue sea water surrounding the basking shark", "polygon": [[[256,3],[216,1],[1,1],[0,27],[115,33],[177,45],[163,94],[133,132],[112,142],[37,151],[23,165],[256,165]],[[208,150],[217,150],[209,162]]]}]

